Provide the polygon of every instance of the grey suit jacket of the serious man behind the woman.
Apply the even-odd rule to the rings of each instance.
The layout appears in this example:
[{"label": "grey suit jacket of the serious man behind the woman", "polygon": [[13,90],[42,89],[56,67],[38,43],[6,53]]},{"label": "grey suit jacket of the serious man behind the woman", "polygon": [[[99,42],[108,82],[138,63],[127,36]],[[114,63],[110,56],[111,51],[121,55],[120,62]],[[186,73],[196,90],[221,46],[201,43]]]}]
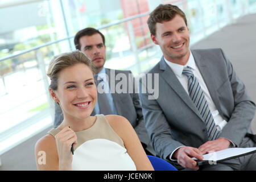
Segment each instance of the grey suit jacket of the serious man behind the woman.
[{"label": "grey suit jacket of the serious man behind the woman", "polygon": [[[121,73],[123,76],[127,78],[126,85],[127,90],[126,93],[117,93],[114,90],[114,93],[112,93],[113,101],[115,108],[117,109],[117,114],[122,115],[125,117],[131,125],[134,127],[134,130],[136,131],[139,139],[141,142],[146,146],[150,146],[150,139],[147,134],[147,130],[144,125],[143,121],[143,115],[142,115],[142,108],[139,102],[139,96],[138,92],[135,92],[135,80],[134,77],[131,75],[131,71],[118,71],[114,69],[108,69],[105,68],[106,75],[109,77],[109,86],[111,87],[110,80],[114,80],[115,84],[114,87],[120,82],[121,80],[115,80],[115,78],[111,78],[112,75],[110,75],[110,70],[112,70],[112,73],[114,73],[114,77],[116,77],[119,73]],[[129,75],[130,73],[130,75]],[[130,84],[129,84],[130,82]],[[129,93],[129,85],[133,85],[132,93]],[[119,88],[119,87],[118,87]],[[111,88],[110,88],[111,89]],[[95,115],[95,111],[93,110],[91,115]],[[63,113],[58,104],[55,103],[55,121],[54,126],[57,127],[60,125],[60,123],[63,121]],[[151,149],[148,149],[151,154],[154,152]],[[154,154],[154,153],[153,153]]]}]

